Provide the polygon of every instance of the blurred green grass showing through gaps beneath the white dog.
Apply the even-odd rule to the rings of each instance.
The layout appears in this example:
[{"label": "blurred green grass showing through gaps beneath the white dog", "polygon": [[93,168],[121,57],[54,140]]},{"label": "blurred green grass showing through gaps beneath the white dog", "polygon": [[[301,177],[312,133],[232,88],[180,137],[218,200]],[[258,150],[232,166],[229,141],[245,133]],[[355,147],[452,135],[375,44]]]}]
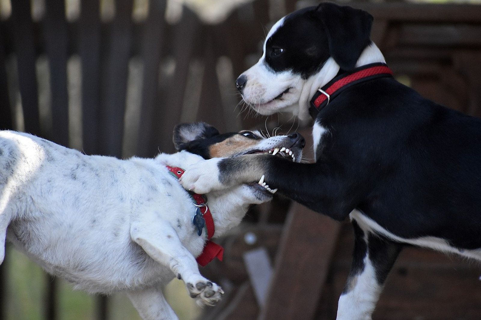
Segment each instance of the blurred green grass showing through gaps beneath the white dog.
[{"label": "blurred green grass showing through gaps beneath the white dog", "polygon": [[[23,253],[7,246],[6,253],[6,320],[43,320],[44,293],[50,276]],[[57,278],[58,279],[58,278]],[[95,319],[95,296],[75,291],[70,283],[58,279],[57,312],[60,320]],[[165,296],[180,320],[198,318],[201,308],[189,297],[182,281],[174,279],[165,288]],[[109,319],[140,320],[125,294],[112,295],[108,305]]]}]

